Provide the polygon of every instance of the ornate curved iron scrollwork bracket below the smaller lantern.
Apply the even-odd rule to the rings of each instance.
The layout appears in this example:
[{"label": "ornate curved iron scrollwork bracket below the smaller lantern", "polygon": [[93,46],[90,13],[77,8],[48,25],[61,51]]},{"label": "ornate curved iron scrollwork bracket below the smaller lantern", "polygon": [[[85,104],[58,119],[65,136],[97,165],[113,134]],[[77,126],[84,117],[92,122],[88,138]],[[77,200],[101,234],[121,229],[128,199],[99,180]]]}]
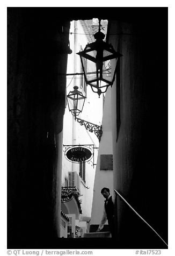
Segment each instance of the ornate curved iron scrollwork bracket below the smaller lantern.
[{"label": "ornate curved iron scrollwork bracket below the smaller lantern", "polygon": [[93,124],[93,123],[90,123],[88,121],[85,121],[81,118],[76,118],[77,122],[80,124],[80,125],[84,125],[85,126],[85,129],[90,131],[90,132],[94,132],[100,142],[101,140],[101,136],[103,134],[103,131],[102,131],[102,125],[97,125],[97,124]]}]

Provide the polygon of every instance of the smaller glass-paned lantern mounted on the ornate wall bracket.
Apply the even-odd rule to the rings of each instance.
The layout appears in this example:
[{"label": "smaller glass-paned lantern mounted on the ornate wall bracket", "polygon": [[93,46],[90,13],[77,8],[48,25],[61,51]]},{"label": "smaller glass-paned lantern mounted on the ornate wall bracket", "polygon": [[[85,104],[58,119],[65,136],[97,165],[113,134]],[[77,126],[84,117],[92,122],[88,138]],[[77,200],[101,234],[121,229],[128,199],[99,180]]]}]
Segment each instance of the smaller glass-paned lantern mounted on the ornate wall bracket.
[{"label": "smaller glass-paned lantern mounted on the ornate wall bracket", "polygon": [[78,86],[74,86],[74,91],[70,91],[67,95],[69,111],[75,117],[75,120],[76,116],[78,116],[83,110],[85,98],[86,97],[83,96],[81,91],[78,91]]}]

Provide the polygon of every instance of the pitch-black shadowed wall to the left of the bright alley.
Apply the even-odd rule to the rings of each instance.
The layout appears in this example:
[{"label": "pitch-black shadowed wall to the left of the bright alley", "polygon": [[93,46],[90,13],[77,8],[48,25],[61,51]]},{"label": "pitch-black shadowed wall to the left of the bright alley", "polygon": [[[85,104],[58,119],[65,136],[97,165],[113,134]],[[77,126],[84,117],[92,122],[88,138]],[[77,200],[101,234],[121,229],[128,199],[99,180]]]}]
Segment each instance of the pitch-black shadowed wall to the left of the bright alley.
[{"label": "pitch-black shadowed wall to the left of the bright alley", "polygon": [[56,136],[64,115],[69,27],[47,8],[8,8],[10,246],[57,237]]}]

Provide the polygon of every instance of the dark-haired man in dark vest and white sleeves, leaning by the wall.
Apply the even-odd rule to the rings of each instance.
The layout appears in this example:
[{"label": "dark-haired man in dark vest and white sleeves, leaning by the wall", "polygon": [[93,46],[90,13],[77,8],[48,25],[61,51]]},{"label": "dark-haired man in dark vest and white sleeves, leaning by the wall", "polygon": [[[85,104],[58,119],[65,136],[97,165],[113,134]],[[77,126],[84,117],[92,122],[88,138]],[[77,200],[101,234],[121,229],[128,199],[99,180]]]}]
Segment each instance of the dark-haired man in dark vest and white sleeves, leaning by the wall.
[{"label": "dark-haired man in dark vest and white sleeves, leaning by the wall", "polygon": [[104,212],[100,225],[96,232],[100,232],[103,229],[106,221],[110,227],[111,236],[114,237],[114,198],[110,195],[110,189],[101,189],[101,194],[105,197]]}]

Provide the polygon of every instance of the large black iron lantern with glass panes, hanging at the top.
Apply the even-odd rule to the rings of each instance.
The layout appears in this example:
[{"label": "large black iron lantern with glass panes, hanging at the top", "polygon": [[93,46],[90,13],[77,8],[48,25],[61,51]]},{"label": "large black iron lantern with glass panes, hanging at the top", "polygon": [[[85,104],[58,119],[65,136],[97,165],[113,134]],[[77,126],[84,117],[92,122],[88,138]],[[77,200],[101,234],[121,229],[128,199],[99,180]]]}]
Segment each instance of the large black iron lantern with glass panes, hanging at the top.
[{"label": "large black iron lantern with glass panes, hanging at the top", "polygon": [[[122,56],[111,44],[103,41],[105,34],[100,32],[100,26],[99,19],[99,31],[94,34],[96,41],[86,45],[82,52],[77,53],[81,58],[85,81],[99,97],[101,93],[106,93],[108,86],[112,87],[116,63]],[[86,67],[83,63],[86,63]]]}]

